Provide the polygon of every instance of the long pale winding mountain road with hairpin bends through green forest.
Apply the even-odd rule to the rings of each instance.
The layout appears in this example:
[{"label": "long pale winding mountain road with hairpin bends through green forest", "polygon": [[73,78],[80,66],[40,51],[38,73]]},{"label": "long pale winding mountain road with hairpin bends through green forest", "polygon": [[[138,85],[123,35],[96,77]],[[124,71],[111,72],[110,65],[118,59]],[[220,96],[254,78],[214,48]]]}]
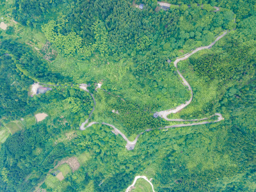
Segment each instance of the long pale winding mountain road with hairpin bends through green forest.
[{"label": "long pale winding mountain road with hairpin bends through green forest", "polygon": [[[195,54],[196,52],[198,51],[201,51],[201,50],[204,50],[204,49],[211,49],[211,47],[216,44],[216,42],[218,42],[218,40],[220,40],[221,38],[223,38],[223,36],[227,35],[227,31],[225,31],[222,35],[218,36],[216,38],[216,40],[214,40],[214,42],[212,42],[210,45],[207,45],[207,46],[204,46],[204,47],[198,47],[197,49],[193,50],[192,52],[189,52],[187,54],[184,54],[183,56],[180,56],[179,58],[177,58],[173,64],[174,64],[174,67],[177,69],[177,72],[180,76],[180,78],[182,79],[182,83],[184,84],[184,86],[188,86],[188,89],[191,93],[191,97],[189,100],[187,100],[184,104],[180,104],[179,106],[177,106],[177,108],[172,108],[172,109],[167,109],[167,110],[164,110],[164,111],[159,111],[159,112],[156,112],[157,115],[161,116],[161,118],[164,118],[165,120],[167,121],[170,121],[170,122],[195,122],[195,121],[201,121],[201,120],[208,120],[209,118],[211,118],[212,116],[218,116],[218,120],[215,120],[215,121],[212,121],[212,122],[209,122],[209,121],[204,121],[204,122],[195,122],[195,123],[191,123],[191,124],[177,124],[177,125],[168,125],[168,126],[165,126],[165,127],[159,127],[159,129],[168,129],[168,128],[174,128],[174,127],[188,127],[188,126],[193,126],[193,125],[203,125],[203,124],[210,124],[210,123],[216,123],[216,122],[220,122],[221,120],[223,120],[223,116],[220,114],[220,113],[215,113],[214,115],[211,115],[209,116],[208,118],[201,118],[201,119],[193,119],[193,120],[184,120],[184,119],[179,119],[179,118],[175,118],[175,119],[170,119],[168,118],[167,116],[170,115],[171,113],[177,113],[179,112],[180,110],[186,108],[186,106],[188,106],[192,99],[193,99],[193,90],[190,86],[190,84],[188,83],[188,81],[186,81],[186,79],[182,76],[182,74],[180,73],[178,67],[177,67],[177,64],[179,63],[179,61],[183,61],[183,60],[186,60],[188,59],[190,56],[192,56],[193,54]],[[41,84],[44,84],[44,83],[41,83]],[[44,84],[44,85],[47,85],[47,86],[67,86],[67,85],[57,85],[57,84]],[[70,86],[74,86],[74,84],[71,84]],[[92,117],[92,114],[93,114],[93,111],[95,109],[95,106],[96,106],[96,101],[93,97],[93,94],[89,92],[89,90],[87,90],[87,84],[79,84],[79,88],[81,88],[82,90],[88,92],[92,99],[93,99],[93,102],[94,102],[94,106],[93,106],[93,109],[92,111],[90,112],[89,114],[89,117],[85,120],[85,122],[83,122],[83,124],[81,124],[80,126],[80,130],[84,130],[88,127],[91,127],[93,124],[102,124],[102,125],[108,125],[109,127],[112,127],[115,132],[117,132],[118,134],[120,134],[122,136],[122,138],[124,138],[125,141],[127,141],[127,144],[126,144],[126,148],[127,150],[132,150],[134,149],[137,141],[138,141],[138,138],[140,137],[141,134],[143,134],[144,132],[148,132],[148,131],[152,131],[152,129],[147,129],[143,132],[141,132],[140,134],[138,134],[135,138],[135,140],[133,141],[129,141],[128,138],[125,136],[124,133],[122,133],[119,129],[117,129],[114,125],[111,125],[111,124],[107,124],[105,122],[102,122],[102,123],[99,123],[99,122],[89,122],[90,118]],[[87,125],[86,125],[87,124]],[[85,127],[86,125],[86,127]]]}]

